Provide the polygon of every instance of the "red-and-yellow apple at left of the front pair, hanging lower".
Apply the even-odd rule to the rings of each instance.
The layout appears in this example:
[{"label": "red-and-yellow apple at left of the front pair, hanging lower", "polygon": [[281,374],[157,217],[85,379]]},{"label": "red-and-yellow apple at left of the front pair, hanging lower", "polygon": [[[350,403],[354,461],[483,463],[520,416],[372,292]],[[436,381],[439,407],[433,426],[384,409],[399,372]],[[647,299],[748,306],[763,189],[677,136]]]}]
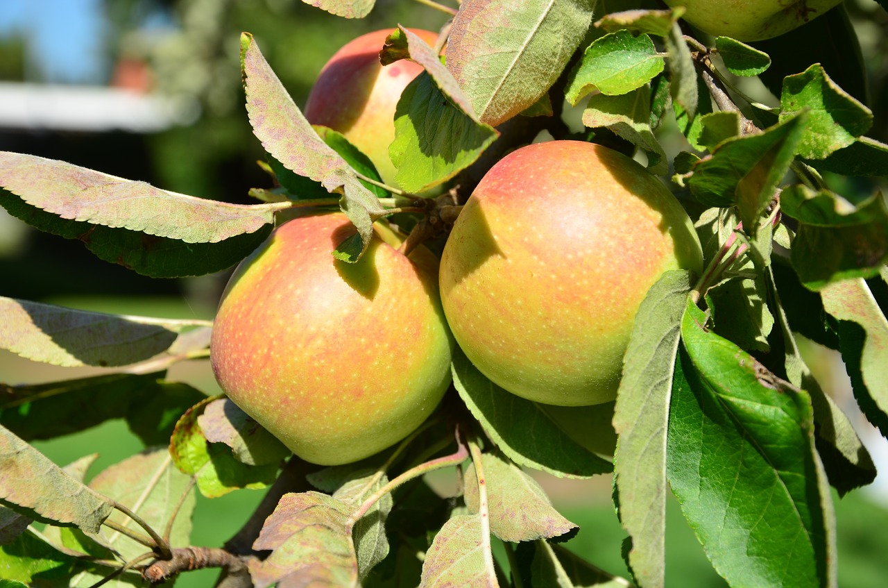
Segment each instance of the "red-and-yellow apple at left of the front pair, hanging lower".
[{"label": "red-and-yellow apple at left of the front pair, hanging lower", "polygon": [[237,267],[213,326],[219,385],[305,461],[339,465],[400,441],[438,405],[453,350],[438,260],[379,223],[356,264],[341,213],[278,226]]}]

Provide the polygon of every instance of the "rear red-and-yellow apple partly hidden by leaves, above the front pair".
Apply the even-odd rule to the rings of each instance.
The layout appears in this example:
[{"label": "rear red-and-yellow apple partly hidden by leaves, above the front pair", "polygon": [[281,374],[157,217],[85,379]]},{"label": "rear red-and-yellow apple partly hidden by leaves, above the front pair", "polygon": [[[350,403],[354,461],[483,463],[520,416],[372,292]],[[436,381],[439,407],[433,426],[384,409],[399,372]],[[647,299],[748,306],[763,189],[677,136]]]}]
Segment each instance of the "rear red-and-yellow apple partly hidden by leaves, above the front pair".
[{"label": "rear red-and-yellow apple partly hidden by leaves, above the front pair", "polygon": [[[411,28],[434,45],[438,34]],[[397,171],[388,147],[394,140],[394,111],[400,94],[423,68],[400,60],[385,66],[379,52],[392,29],[361,35],[345,44],[321,69],[305,103],[309,123],[322,124],[345,135],[376,166],[389,186]]]}]

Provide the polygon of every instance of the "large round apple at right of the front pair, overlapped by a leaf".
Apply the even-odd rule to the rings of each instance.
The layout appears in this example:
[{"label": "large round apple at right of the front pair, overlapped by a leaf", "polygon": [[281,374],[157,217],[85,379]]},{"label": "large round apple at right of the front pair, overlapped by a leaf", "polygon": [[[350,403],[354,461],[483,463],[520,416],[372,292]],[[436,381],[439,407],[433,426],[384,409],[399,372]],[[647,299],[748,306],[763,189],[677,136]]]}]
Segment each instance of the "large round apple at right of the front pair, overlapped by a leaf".
[{"label": "large round apple at right of the front pair, overlapped by a leaf", "polygon": [[521,147],[481,179],[440,263],[450,330],[496,385],[561,406],[613,401],[647,290],[702,269],[700,242],[662,183],[607,147]]}]

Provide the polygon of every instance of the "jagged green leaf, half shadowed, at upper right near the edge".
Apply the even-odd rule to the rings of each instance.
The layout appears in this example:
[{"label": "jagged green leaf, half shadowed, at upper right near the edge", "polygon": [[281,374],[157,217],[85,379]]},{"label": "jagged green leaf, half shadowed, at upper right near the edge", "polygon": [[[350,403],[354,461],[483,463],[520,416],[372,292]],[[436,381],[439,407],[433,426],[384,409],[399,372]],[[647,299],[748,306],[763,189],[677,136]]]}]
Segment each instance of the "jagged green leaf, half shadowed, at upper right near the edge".
[{"label": "jagged green leaf, half shadowed, at upper right near the edge", "polygon": [[833,83],[819,63],[783,80],[781,122],[802,110],[809,115],[797,154],[808,159],[823,159],[852,145],[873,123],[869,108]]}]

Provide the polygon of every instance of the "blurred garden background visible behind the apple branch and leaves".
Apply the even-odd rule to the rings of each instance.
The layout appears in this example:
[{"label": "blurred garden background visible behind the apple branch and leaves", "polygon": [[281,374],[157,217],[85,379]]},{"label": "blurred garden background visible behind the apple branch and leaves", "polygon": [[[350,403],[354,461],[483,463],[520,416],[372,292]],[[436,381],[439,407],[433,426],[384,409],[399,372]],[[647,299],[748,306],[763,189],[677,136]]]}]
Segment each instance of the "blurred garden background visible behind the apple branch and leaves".
[{"label": "blurred garden background visible behind the apple branch and leaves", "polygon": [[[869,92],[882,113],[871,134],[884,139],[888,15],[872,0],[846,4],[869,70]],[[7,113],[0,120],[0,150],[61,159],[175,192],[247,203],[250,187],[267,187],[269,180],[256,165],[263,153],[242,106],[241,31],[255,36],[301,106],[323,62],[347,40],[398,23],[440,28],[444,20],[440,12],[408,0],[377,0],[366,20],[338,19],[300,0],[0,0],[0,117]],[[32,92],[28,96],[41,98],[48,88],[60,91],[55,95],[61,97],[82,88],[131,92],[163,100],[172,115],[145,130],[126,120],[59,123],[45,112],[18,118],[9,114],[21,106],[4,101],[19,96],[16,91],[25,89]],[[66,112],[74,108],[64,99],[58,107]],[[0,210],[2,296],[101,312],[211,318],[226,275],[151,280],[93,258],[80,243],[37,233]],[[815,346],[808,353],[817,358],[813,364],[826,366],[818,374],[830,382],[826,387],[852,405],[835,356]],[[817,354],[826,354],[826,360]],[[53,368],[0,352],[0,383],[46,382],[95,371]],[[170,378],[204,393],[218,392],[206,362],[178,365]],[[868,431],[862,422],[861,430]],[[141,449],[122,421],[35,444],[60,465],[99,452],[90,475]],[[620,556],[624,533],[611,504],[610,479],[558,481],[541,475],[539,480],[567,518],[582,527],[568,547],[625,575]],[[884,493],[886,487],[880,488]],[[859,490],[836,500],[840,585],[882,588],[888,578],[888,497],[877,491]],[[261,496],[258,490],[242,490],[214,500],[201,498],[194,515],[194,544],[221,545]],[[724,585],[674,501],[668,515],[667,585]],[[177,585],[209,586],[217,573],[189,573]]]}]

